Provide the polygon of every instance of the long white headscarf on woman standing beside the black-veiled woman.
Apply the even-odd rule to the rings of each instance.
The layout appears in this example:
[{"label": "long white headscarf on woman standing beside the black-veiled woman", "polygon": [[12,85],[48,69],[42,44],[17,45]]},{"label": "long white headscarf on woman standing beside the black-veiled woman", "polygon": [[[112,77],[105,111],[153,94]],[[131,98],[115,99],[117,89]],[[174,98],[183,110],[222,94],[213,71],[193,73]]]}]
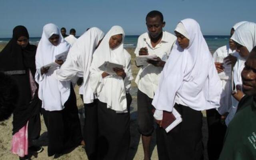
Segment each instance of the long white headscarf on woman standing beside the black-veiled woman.
[{"label": "long white headscarf on woman standing beside the black-veiled woman", "polygon": [[[60,36],[57,46],[54,46],[49,38],[53,34]],[[53,71],[41,75],[40,68],[55,61],[55,56],[68,51],[70,45],[62,37],[55,24],[46,24],[43,28],[42,38],[36,50],[36,82],[39,84],[38,97],[42,100],[42,108],[45,110],[62,110],[64,103],[70,95],[70,82],[60,82],[53,76]]]}]

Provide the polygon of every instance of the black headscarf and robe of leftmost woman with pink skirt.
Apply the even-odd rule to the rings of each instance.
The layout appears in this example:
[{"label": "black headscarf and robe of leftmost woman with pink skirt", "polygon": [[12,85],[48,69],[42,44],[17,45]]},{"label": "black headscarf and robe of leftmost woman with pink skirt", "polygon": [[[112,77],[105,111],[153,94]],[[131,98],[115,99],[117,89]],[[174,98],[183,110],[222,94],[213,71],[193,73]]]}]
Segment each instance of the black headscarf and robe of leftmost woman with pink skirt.
[{"label": "black headscarf and robe of leftmost woman with pink skirt", "polygon": [[0,52],[0,70],[3,72],[24,70],[24,74],[11,74],[14,84],[17,86],[18,98],[13,113],[13,133],[15,134],[26,125],[32,117],[39,117],[40,100],[37,93],[32,100],[29,70],[32,75],[36,73],[35,56],[36,46],[28,44],[22,48],[17,44],[18,38],[25,36],[29,39],[28,31],[24,26],[16,26],[10,42]]}]

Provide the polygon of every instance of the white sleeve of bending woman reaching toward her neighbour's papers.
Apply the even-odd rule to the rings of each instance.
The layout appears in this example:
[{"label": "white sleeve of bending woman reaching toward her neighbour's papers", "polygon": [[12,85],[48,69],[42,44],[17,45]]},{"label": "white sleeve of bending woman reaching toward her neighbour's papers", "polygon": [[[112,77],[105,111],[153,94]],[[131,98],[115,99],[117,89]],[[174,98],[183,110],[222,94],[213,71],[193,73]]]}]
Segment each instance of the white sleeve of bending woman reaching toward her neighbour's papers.
[{"label": "white sleeve of bending woman reaching toward her neighbour's papers", "polygon": [[70,54],[60,69],[54,71],[54,76],[60,81],[72,80],[76,78],[75,76],[83,77],[82,64],[82,58],[79,55]]}]

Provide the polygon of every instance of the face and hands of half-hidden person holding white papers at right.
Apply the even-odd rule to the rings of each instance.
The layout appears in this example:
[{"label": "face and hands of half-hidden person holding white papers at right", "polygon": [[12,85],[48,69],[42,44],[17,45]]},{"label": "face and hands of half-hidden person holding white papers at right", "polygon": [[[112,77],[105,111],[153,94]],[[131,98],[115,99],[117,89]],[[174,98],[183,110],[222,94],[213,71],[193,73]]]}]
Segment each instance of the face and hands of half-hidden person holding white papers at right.
[{"label": "face and hands of half-hidden person holding white papers at right", "polygon": [[[235,30],[234,30],[234,28],[232,28],[231,31],[230,31],[230,39],[229,39],[229,47],[230,47],[231,50],[235,50],[236,49],[236,44],[231,39],[231,37],[234,34],[234,32],[235,32]],[[236,64],[237,58],[235,56],[232,56],[231,54],[229,54],[226,58],[224,58],[224,60],[226,61],[226,63],[228,65],[231,64],[232,66],[234,66]],[[218,73],[224,71],[223,63],[215,62],[215,67],[216,67],[216,70],[218,71]]]}]

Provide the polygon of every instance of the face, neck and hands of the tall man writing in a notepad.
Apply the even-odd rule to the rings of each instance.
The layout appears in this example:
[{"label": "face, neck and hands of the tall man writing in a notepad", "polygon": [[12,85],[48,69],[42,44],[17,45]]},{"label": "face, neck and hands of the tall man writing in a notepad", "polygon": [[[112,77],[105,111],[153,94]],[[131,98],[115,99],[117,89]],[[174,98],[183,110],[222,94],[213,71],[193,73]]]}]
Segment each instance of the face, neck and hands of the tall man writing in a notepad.
[{"label": "face, neck and hands of the tall man writing in a notepad", "polygon": [[[150,42],[153,48],[156,47],[162,40],[163,36],[163,28],[165,26],[165,22],[161,21],[160,16],[155,17],[147,17],[146,18],[146,26],[148,28],[148,33],[150,36]],[[148,48],[140,48],[139,55],[148,55]],[[161,60],[160,57],[154,58],[154,60],[148,60],[148,63],[156,66],[156,67],[164,67],[165,62]],[[140,67],[140,66],[137,66]]]}]

